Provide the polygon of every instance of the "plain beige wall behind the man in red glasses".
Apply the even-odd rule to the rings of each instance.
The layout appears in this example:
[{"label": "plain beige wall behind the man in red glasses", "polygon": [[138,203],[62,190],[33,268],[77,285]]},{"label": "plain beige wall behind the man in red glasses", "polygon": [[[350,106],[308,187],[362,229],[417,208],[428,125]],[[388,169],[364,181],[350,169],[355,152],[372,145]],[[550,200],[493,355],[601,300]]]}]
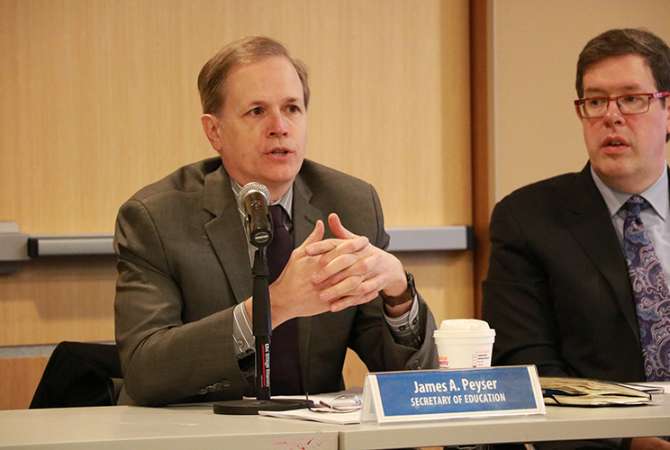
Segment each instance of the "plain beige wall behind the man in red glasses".
[{"label": "plain beige wall behind the man in red glasses", "polygon": [[[586,163],[573,100],[577,57],[611,28],[645,27],[670,42],[667,0],[493,0],[495,200]],[[491,203],[493,208],[493,202]]]}]

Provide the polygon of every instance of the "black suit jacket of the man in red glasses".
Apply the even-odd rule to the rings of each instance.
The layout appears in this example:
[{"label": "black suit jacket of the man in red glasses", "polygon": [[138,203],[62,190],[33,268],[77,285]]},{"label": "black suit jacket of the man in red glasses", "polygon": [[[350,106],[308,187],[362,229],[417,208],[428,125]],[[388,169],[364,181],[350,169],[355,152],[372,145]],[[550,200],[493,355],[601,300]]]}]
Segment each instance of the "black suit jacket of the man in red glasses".
[{"label": "black suit jacket of the man in red glasses", "polygon": [[494,365],[645,381],[626,259],[590,166],[502,199],[491,219],[484,320]]}]

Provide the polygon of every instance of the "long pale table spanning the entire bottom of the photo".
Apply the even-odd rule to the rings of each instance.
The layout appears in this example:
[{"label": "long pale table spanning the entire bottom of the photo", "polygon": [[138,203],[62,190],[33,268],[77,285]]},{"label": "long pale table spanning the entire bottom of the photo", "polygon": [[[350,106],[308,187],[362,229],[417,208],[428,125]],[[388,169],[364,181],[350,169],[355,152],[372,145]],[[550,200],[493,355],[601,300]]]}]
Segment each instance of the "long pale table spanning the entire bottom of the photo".
[{"label": "long pale table spanning the entire bottom of the photo", "polygon": [[0,449],[357,450],[670,435],[670,394],[625,408],[547,407],[546,417],[377,426],[220,416],[211,405],[0,411]]}]

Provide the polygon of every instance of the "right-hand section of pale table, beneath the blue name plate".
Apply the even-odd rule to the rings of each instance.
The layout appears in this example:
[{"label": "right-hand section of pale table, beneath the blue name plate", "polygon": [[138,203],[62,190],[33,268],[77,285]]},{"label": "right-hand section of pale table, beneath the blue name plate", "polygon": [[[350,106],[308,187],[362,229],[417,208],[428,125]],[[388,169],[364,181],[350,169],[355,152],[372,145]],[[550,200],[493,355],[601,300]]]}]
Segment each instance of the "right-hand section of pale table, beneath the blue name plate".
[{"label": "right-hand section of pale table, beneath the blue name plate", "polygon": [[340,427],[340,449],[467,446],[572,439],[670,436],[670,394],[655,405],[610,408],[548,406],[547,416],[453,419],[403,425]]}]

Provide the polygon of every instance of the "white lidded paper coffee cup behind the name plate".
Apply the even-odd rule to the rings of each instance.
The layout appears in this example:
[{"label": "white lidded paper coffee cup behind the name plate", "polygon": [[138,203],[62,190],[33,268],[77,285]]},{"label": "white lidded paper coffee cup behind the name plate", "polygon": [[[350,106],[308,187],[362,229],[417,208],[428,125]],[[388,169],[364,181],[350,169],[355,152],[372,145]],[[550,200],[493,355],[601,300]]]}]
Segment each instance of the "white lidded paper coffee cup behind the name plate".
[{"label": "white lidded paper coffee cup behind the name plate", "polygon": [[484,320],[444,320],[433,337],[440,369],[491,367],[495,330]]}]

